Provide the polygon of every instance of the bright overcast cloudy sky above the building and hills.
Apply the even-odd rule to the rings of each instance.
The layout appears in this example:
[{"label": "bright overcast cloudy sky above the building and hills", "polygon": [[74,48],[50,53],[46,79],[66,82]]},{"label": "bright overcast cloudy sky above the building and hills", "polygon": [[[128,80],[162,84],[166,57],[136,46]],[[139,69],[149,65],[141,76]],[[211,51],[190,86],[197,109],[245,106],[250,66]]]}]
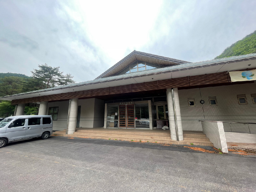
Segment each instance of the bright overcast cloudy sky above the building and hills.
[{"label": "bright overcast cloudy sky above the building and hills", "polygon": [[92,80],[133,50],[211,60],[256,30],[255,0],[0,0],[1,73]]}]

